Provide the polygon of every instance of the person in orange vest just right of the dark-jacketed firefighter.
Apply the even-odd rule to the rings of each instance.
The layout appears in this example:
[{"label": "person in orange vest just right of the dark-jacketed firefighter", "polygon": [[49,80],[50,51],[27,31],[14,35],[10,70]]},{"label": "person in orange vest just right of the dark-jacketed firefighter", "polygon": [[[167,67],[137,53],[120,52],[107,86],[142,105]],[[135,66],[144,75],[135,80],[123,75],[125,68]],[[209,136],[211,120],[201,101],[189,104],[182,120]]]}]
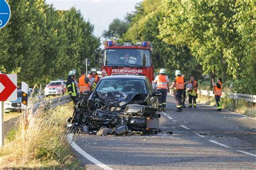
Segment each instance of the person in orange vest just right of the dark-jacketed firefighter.
[{"label": "person in orange vest just right of the dark-jacketed firefighter", "polygon": [[85,95],[83,94],[84,91],[91,91],[91,82],[89,77],[85,76],[85,70],[81,70],[81,76],[79,77],[78,87],[80,91],[80,100],[82,100]]}]

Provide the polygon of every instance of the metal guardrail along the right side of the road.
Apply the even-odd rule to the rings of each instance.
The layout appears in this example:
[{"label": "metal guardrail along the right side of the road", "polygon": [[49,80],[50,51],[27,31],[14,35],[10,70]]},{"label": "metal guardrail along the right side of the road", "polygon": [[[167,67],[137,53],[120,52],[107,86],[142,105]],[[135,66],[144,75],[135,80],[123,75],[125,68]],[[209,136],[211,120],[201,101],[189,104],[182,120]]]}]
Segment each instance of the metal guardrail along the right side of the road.
[{"label": "metal guardrail along the right side of the road", "polygon": [[[212,96],[214,97],[213,91],[208,90],[198,90],[199,95],[205,96]],[[233,100],[244,100],[247,102],[256,103],[256,95],[247,95],[247,94],[240,94],[240,93],[222,93],[221,97],[231,98]]]}]

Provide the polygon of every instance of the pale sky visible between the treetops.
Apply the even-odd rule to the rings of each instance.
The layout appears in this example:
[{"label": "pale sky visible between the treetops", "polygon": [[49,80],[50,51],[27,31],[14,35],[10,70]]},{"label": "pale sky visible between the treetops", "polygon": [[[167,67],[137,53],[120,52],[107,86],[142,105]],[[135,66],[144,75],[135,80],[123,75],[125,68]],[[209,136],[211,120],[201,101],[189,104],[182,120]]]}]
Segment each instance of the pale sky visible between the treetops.
[{"label": "pale sky visible between the treetops", "polygon": [[114,18],[124,19],[127,12],[134,11],[138,2],[142,0],[46,0],[57,10],[68,10],[75,6],[95,26],[94,34],[97,37],[109,29]]}]

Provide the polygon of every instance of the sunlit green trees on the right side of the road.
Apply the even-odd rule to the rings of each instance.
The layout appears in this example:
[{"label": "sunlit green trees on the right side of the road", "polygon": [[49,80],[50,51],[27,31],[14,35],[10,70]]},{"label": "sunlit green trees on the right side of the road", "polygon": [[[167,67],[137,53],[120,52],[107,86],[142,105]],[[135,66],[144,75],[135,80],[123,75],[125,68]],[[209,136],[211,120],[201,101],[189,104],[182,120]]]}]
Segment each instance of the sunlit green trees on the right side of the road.
[{"label": "sunlit green trees on the right side of the road", "polygon": [[235,92],[256,93],[255,1],[145,0],[135,9],[119,41],[152,41],[156,72],[218,76]]}]

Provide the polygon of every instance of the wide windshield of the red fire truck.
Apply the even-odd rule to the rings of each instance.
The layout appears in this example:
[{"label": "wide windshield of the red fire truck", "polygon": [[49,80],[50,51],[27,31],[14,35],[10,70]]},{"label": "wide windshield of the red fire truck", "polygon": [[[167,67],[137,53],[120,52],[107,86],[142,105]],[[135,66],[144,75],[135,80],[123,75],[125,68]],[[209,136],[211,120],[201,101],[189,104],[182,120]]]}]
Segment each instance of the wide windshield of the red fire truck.
[{"label": "wide windshield of the red fire truck", "polygon": [[150,67],[151,52],[149,49],[105,49],[104,66],[114,67]]}]

